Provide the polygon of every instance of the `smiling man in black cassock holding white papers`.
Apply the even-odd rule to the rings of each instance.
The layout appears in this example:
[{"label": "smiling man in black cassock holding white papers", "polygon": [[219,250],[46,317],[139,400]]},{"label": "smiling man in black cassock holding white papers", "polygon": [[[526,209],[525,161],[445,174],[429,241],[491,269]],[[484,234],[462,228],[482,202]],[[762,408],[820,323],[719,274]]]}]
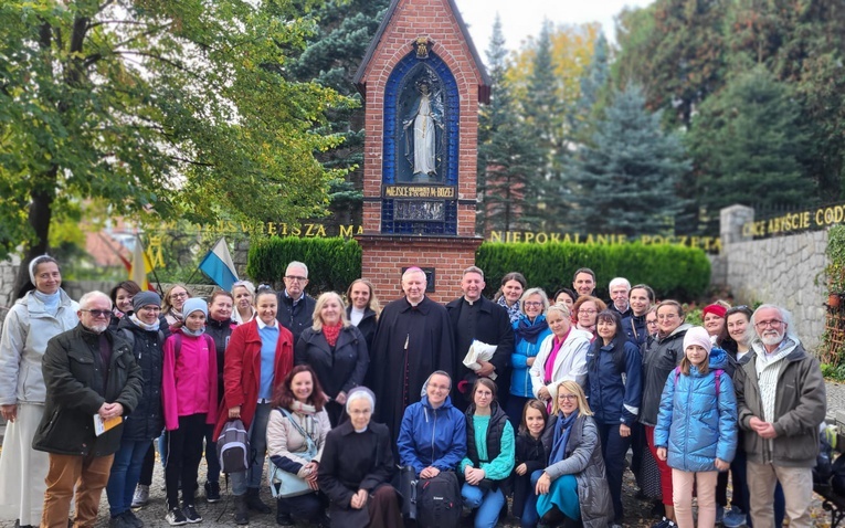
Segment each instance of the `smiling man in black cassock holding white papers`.
[{"label": "smiling man in black cassock holding white papers", "polygon": [[[514,353],[514,328],[510,316],[500,305],[482,296],[484,292],[484,272],[469,266],[461,278],[462,297],[446,305],[455,339],[455,357],[458,362],[457,376],[453,377],[460,394],[452,399],[452,404],[465,411],[469,404],[473,383],[479,377],[495,378],[496,400],[505,409],[510,392],[510,355]],[[478,340],[495,345],[496,351],[489,361],[478,361],[480,370],[473,371],[464,367],[463,361],[469,346]],[[495,376],[494,376],[495,374]]]}]

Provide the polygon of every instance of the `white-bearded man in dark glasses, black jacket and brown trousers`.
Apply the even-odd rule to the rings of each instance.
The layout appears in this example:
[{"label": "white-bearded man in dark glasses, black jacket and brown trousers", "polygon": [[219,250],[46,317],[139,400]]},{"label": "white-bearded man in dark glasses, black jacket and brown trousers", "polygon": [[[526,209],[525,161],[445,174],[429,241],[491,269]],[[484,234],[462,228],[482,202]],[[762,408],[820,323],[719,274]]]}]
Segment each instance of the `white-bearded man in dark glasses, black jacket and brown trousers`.
[{"label": "white-bearded man in dark glasses, black jacket and brown trousers", "polygon": [[[112,299],[91,292],[80,299],[80,324],[47,342],[43,359],[46,406],[32,447],[50,454],[42,528],[65,528],[71,497],[75,526],[94,526],[123,416],[141,395],[141,369],[129,342],[108,330]],[[105,432],[97,423],[115,420]],[[117,525],[129,526],[129,525]]]}]

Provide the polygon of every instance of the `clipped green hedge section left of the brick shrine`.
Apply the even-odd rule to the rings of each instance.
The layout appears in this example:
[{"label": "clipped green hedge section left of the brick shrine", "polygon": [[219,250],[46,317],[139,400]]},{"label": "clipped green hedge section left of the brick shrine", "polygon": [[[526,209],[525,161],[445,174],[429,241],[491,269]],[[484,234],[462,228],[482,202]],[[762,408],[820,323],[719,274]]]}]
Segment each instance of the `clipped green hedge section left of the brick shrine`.
[{"label": "clipped green hedge section left of the brick shrine", "polygon": [[361,276],[361,246],[353,240],[279,239],[271,236],[250,244],[246,274],[257,283],[284,287],[282,277],[291,261],[308,265],[309,295],[323,292],[346,292],[349,284]]}]

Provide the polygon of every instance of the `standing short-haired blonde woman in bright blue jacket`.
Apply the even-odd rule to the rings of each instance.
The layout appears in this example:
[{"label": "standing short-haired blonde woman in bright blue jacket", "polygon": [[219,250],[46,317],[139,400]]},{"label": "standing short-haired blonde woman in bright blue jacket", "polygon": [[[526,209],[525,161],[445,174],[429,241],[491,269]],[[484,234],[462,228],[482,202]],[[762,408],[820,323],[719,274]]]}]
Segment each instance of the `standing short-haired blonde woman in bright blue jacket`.
[{"label": "standing short-haired blonde woman in bright blue jacket", "polygon": [[514,321],[514,353],[510,355],[510,398],[505,404],[505,412],[510,420],[510,425],[519,426],[522,419],[522,409],[529,400],[534,399],[531,392],[531,374],[528,372],[534,365],[540,345],[546,337],[551,335],[549,324],[546,323],[546,308],[549,307],[549,298],[541,288],[527,289],[519,299],[521,314]]}]

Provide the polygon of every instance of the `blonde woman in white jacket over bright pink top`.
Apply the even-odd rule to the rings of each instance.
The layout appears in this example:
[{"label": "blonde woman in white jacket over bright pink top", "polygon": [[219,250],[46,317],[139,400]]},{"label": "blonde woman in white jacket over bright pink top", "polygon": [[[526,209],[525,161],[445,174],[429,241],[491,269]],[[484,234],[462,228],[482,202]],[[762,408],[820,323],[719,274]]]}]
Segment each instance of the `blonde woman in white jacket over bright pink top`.
[{"label": "blonde woman in white jacket over bright pink top", "polygon": [[549,306],[546,321],[551,329],[540,345],[537,359],[531,365],[531,391],[534,395],[551,404],[558,394],[558,386],[566,380],[581,387],[587,381],[587,351],[592,335],[572,327],[569,307],[564,304]]}]

